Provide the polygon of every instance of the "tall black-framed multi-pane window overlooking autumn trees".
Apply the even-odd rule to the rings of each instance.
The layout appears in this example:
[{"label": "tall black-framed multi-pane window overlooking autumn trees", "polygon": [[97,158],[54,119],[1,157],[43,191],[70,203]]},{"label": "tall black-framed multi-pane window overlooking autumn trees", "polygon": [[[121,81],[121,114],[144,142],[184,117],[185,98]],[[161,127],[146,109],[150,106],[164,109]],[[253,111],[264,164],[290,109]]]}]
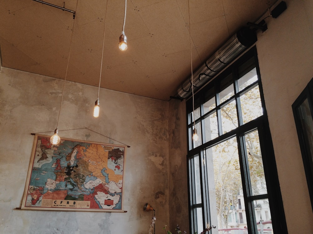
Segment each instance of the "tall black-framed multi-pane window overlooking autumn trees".
[{"label": "tall black-framed multi-pane window overlooking autumn trees", "polygon": [[187,100],[191,233],[287,233],[259,74],[254,47]]}]

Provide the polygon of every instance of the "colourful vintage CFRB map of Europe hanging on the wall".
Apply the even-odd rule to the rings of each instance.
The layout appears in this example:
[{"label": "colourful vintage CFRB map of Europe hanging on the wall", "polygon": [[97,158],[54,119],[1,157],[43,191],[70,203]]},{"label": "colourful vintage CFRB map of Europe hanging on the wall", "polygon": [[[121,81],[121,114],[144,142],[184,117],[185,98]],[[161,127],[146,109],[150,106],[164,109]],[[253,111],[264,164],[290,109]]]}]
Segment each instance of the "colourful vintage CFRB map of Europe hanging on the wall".
[{"label": "colourful vintage CFRB map of Europe hanging on the wall", "polygon": [[21,209],[123,212],[125,149],[35,135]]}]

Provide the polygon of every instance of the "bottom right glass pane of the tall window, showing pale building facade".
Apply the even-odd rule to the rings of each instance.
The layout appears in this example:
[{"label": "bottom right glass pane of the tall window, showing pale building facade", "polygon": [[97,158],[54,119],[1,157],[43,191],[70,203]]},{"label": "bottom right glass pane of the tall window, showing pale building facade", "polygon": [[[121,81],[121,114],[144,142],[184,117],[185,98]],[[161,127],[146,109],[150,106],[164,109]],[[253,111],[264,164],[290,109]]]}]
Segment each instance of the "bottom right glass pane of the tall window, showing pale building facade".
[{"label": "bottom right glass pane of the tall window, showing pale building facade", "polygon": [[269,200],[263,199],[254,201],[254,212],[258,227],[258,233],[274,233],[271,212],[269,210]]}]

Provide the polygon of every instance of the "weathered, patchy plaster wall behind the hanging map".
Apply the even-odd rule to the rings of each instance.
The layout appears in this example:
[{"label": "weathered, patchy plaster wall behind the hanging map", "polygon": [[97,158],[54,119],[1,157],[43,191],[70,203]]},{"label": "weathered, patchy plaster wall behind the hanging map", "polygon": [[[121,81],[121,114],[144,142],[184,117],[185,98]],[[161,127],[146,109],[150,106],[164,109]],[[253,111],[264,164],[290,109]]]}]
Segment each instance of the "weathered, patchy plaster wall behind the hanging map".
[{"label": "weathered, patchy plaster wall behind the hanging map", "polygon": [[[169,102],[101,89],[100,117],[94,118],[97,87],[69,81],[59,135],[120,144],[115,139],[131,146],[126,149],[123,181],[122,208],[127,212],[15,209],[21,206],[32,153],[30,133],[54,131],[63,84],[64,80],[1,68],[0,233],[148,233],[153,212],[143,211],[146,202],[156,210],[156,233],[161,233],[169,224]],[[67,129],[78,130],[61,131]]]}]

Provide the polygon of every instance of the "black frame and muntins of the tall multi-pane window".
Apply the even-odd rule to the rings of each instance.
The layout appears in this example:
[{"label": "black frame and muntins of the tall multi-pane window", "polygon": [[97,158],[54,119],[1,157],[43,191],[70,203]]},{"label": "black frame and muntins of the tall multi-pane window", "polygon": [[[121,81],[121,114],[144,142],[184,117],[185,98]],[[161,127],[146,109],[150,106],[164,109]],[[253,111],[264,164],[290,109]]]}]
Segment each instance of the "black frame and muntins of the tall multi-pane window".
[{"label": "black frame and muntins of the tall multi-pane window", "polygon": [[[249,59],[254,60],[254,65],[257,73],[257,81],[254,81],[252,84],[248,85],[247,87],[243,88],[239,91],[238,86],[238,79],[241,78],[239,76],[239,66],[243,65],[245,62],[249,61]],[[248,69],[248,68],[247,68]],[[241,72],[243,73],[243,71]],[[234,95],[231,98],[219,103],[219,96],[218,93],[223,90],[223,88],[219,87],[221,80],[225,79],[225,77],[232,74],[233,76],[233,89]],[[241,105],[240,105],[240,96],[245,94],[249,90],[252,90],[254,87],[259,86],[260,98],[261,98],[261,105],[263,109],[263,115],[257,117],[254,120],[249,121],[248,123],[243,124],[243,118],[241,116]],[[223,86],[227,87],[227,86]],[[215,90],[213,95],[208,95],[208,90]],[[204,113],[203,104],[210,100],[213,96],[215,96],[215,103],[217,106],[213,108],[213,110],[207,111]],[[220,109],[230,103],[231,101],[236,101],[236,112],[237,112],[237,124],[238,127],[227,132],[221,132],[221,117],[218,118],[218,129],[219,133],[218,137],[215,139],[211,139],[208,142],[205,140],[205,133],[203,133],[203,126],[204,126],[204,119],[211,115],[214,111],[218,115],[221,115]],[[205,85],[202,89],[200,89],[194,95],[194,108],[197,109],[200,107],[200,117],[195,119],[193,122],[193,113],[192,113],[192,98],[187,100],[186,102],[186,112],[187,112],[187,165],[188,165],[188,196],[189,196],[189,221],[190,221],[190,233],[194,233],[197,228],[196,216],[194,215],[194,209],[196,207],[202,207],[202,217],[203,217],[203,230],[207,227],[207,223],[209,222],[210,225],[215,225],[211,223],[210,219],[210,204],[209,204],[209,196],[208,196],[208,175],[206,170],[203,169],[203,165],[201,162],[204,160],[205,150],[209,147],[212,147],[216,144],[219,144],[227,139],[232,137],[237,138],[238,144],[238,154],[239,154],[239,162],[240,162],[240,170],[241,170],[241,177],[243,182],[243,192],[244,192],[244,205],[245,205],[245,212],[246,212],[246,219],[247,219],[247,228],[249,233],[257,234],[257,224],[255,222],[255,212],[254,212],[254,201],[259,199],[268,199],[270,212],[271,212],[271,220],[272,220],[272,227],[274,233],[288,233],[287,232],[287,225],[285,221],[285,213],[284,207],[282,203],[282,197],[280,192],[280,185],[278,180],[278,173],[276,168],[276,161],[274,155],[274,149],[272,144],[272,139],[269,131],[269,122],[267,118],[267,112],[265,108],[264,102],[264,95],[262,89],[262,83],[260,79],[260,71],[259,71],[259,63],[257,58],[257,51],[256,46],[252,47],[249,51],[244,53],[239,59],[233,62],[230,66],[228,66],[221,74],[219,74],[216,78],[210,81],[207,85]],[[197,147],[193,147],[193,141],[191,140],[192,137],[192,129],[193,124],[200,123],[201,128],[201,135],[199,135],[199,139],[201,138],[201,144]],[[252,132],[254,130],[258,130],[259,133],[259,142],[262,154],[262,160],[264,165],[264,176],[267,186],[267,194],[261,195],[252,195],[250,191],[250,182],[249,182],[249,166],[247,162],[247,155],[246,149],[244,149],[244,135]],[[192,197],[193,197],[193,183],[194,178],[192,177],[192,160],[193,158],[198,155],[199,157],[199,165],[200,165],[200,189],[203,191],[201,193],[201,203],[194,204]],[[246,183],[248,182],[248,183]],[[217,226],[217,225],[216,225]],[[201,230],[202,231],[202,230]],[[198,230],[198,232],[201,232]]]}]

